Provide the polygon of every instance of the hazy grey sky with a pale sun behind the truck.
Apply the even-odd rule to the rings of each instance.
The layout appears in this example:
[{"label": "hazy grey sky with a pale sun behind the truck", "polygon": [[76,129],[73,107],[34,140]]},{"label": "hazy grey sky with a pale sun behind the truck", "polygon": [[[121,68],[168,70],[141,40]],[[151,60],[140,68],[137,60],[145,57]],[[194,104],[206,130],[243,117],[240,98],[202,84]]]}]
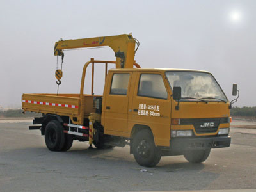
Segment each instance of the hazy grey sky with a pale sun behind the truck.
[{"label": "hazy grey sky with a pale sun behind the truck", "polygon": [[[53,50],[60,38],[130,32],[140,41],[135,59],[141,67],[210,71],[230,100],[232,83],[238,84],[237,106],[256,106],[256,1],[0,4],[0,106],[21,106],[22,93],[56,93]],[[110,48],[65,51],[60,93],[79,93],[83,65],[93,57],[115,60]],[[102,74],[97,71],[96,93],[104,86]]]}]

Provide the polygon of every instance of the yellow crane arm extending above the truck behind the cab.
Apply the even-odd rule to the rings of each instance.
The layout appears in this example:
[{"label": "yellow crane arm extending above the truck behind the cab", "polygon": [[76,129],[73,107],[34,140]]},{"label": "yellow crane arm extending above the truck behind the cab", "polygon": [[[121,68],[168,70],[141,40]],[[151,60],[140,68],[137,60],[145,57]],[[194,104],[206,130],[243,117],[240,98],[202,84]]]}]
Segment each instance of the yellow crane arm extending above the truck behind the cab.
[{"label": "yellow crane arm extending above the truck behind the cab", "polygon": [[55,43],[54,55],[64,56],[63,50],[84,47],[109,46],[115,52],[116,68],[133,68],[135,40],[131,34],[60,40]]}]

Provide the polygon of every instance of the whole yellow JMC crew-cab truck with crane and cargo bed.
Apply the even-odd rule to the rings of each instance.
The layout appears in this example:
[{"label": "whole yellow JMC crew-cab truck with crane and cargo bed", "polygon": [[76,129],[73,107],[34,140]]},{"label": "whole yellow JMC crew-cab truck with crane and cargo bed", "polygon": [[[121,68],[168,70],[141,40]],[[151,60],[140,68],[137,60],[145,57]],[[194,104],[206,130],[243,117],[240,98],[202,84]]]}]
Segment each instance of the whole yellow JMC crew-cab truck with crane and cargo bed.
[{"label": "whole yellow JMC crew-cab truck with crane and cargo bed", "polygon": [[[64,49],[107,45],[116,61],[85,63],[79,94],[23,94],[24,112],[42,113],[29,129],[40,129],[52,151],[67,151],[73,140],[89,141],[90,148],[130,145],[137,163],[148,167],[161,156],[201,163],[211,148],[229,147],[230,108],[237,99],[229,102],[210,72],[141,68],[134,61],[135,44],[131,34],[56,42],[56,56],[63,57]],[[109,63],[116,69],[108,71]],[[88,65],[92,92],[85,95]],[[106,67],[103,95],[93,93],[94,65]]]}]

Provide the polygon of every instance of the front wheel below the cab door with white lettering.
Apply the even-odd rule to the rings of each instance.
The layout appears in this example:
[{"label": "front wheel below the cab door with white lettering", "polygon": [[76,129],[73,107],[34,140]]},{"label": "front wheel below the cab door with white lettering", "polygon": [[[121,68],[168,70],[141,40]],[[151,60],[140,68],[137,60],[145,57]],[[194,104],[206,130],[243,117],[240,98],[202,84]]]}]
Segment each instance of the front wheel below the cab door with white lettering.
[{"label": "front wheel below the cab door with white lettering", "polygon": [[143,129],[137,132],[132,139],[134,158],[141,166],[156,166],[161,159],[161,150],[156,147],[152,132]]}]

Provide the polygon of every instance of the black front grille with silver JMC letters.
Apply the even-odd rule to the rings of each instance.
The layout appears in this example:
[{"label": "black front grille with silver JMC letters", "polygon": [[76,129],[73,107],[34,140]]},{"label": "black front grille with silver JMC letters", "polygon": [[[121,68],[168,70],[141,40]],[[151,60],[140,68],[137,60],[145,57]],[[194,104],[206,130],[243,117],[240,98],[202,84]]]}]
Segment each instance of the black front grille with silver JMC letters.
[{"label": "black front grille with silver JMC letters", "polygon": [[227,124],[228,117],[223,118],[182,118],[180,125],[193,125],[196,133],[212,133],[218,130],[220,124]]}]

